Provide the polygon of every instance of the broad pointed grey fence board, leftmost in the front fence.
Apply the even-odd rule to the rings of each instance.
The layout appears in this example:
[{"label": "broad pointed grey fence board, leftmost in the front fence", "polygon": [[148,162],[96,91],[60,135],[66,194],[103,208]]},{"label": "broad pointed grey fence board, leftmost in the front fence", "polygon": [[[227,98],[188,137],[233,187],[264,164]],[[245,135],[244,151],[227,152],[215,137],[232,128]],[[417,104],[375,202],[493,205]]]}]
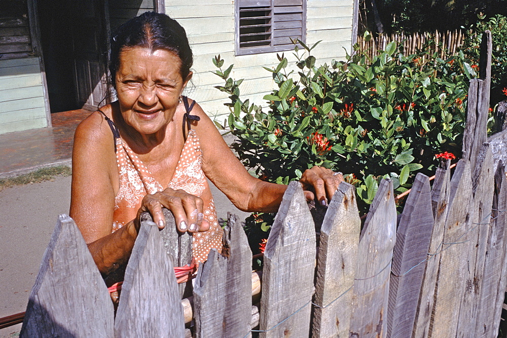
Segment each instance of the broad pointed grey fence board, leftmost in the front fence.
[{"label": "broad pointed grey fence board, leftmost in the front fence", "polygon": [[20,336],[113,335],[109,292],[76,223],[60,215],[29,296]]}]

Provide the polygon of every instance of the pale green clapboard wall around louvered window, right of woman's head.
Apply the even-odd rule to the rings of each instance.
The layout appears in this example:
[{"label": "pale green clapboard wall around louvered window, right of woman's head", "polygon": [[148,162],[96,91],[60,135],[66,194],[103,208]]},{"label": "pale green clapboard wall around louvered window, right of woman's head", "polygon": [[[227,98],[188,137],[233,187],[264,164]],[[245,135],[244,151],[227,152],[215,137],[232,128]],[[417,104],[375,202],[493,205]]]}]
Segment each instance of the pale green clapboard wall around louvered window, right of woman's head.
[{"label": "pale green clapboard wall around louvered window, right of woman's head", "polygon": [[[241,95],[250,102],[264,104],[263,96],[276,84],[271,73],[263,69],[278,64],[276,53],[234,55],[234,1],[202,0],[199,5],[188,5],[188,0],[166,0],[166,14],[176,19],[186,29],[194,52],[194,78],[187,95],[194,98],[210,117],[219,122],[229,114],[224,106],[229,99],[214,86],[223,81],[211,73],[215,55],[225,59],[224,66],[234,63],[231,77],[245,79],[240,86]],[[350,53],[352,38],[353,0],[307,0],[306,41],[312,45],[322,42],[312,51],[317,64],[345,57]],[[345,48],[345,50],[344,50]],[[295,68],[292,51],[285,52],[289,64]]]}]

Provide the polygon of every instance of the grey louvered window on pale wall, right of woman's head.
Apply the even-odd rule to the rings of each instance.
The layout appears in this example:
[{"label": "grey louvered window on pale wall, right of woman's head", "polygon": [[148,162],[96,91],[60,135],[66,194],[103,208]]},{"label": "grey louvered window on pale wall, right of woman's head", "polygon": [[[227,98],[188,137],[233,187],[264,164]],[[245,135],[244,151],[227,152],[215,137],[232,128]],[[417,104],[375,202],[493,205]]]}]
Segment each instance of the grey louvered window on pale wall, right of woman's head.
[{"label": "grey louvered window on pale wall, right of woman's head", "polygon": [[237,0],[236,55],[292,50],[305,22],[306,0]]}]

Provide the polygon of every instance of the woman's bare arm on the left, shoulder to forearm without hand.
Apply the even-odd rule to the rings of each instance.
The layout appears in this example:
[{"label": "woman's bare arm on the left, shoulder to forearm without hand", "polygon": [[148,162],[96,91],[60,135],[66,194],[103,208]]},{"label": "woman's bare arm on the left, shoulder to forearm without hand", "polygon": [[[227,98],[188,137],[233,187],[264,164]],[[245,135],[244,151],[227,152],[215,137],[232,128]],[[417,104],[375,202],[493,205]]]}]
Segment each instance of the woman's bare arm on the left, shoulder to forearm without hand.
[{"label": "woman's bare arm on the left, shoulder to forearm without hand", "polygon": [[129,222],[112,233],[118,169],[113,133],[99,112],[76,129],[72,162],[70,217],[78,224],[99,271],[111,273],[128,260],[137,231]]}]

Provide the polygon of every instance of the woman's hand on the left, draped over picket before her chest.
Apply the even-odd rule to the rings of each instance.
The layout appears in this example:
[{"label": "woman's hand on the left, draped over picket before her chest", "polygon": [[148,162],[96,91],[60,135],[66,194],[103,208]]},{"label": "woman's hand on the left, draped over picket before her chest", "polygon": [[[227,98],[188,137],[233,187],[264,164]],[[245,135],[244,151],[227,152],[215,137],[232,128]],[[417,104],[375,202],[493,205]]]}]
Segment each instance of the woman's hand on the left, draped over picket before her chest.
[{"label": "woman's hand on the left, draped over picket before her chest", "polygon": [[203,201],[197,196],[190,195],[184,190],[173,190],[167,188],[162,192],[144,196],[141,207],[137,210],[137,217],[134,225],[137,231],[140,228],[139,217],[147,211],[159,229],[165,227],[165,216],[162,208],[169,209],[174,215],[176,229],[179,232],[189,231],[191,233],[209,230],[209,223],[203,219]]}]

